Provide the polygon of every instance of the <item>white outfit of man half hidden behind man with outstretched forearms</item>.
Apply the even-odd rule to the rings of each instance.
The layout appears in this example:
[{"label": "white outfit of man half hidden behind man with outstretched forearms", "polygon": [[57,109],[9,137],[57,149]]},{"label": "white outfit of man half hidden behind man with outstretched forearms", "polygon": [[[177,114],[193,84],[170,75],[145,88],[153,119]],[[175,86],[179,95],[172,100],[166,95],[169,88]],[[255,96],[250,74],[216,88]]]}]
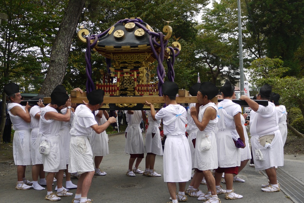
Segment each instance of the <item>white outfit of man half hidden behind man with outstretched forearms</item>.
[{"label": "white outfit of man half hidden behind man with outstretched forearms", "polygon": [[[102,115],[101,118],[98,118],[98,110],[95,111],[95,120],[98,126],[107,122],[105,115]],[[92,147],[93,156],[105,156],[109,154],[109,145],[108,145],[108,135],[105,131],[100,134],[97,134],[93,131],[92,136],[90,137],[90,144]]]}]

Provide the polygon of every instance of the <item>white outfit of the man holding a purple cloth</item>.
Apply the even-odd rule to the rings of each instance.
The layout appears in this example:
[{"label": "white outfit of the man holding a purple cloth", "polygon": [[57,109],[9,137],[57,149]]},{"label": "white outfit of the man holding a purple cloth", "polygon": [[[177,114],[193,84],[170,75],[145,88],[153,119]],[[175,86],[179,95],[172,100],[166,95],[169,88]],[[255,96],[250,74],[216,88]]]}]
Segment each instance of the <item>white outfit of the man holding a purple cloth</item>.
[{"label": "white outfit of the man holding a purple cloth", "polygon": [[219,121],[217,123],[218,132],[216,135],[217,156],[219,167],[228,168],[240,166],[240,149],[237,148],[233,140],[237,140],[239,135],[235,129],[234,115],[242,112],[240,105],[233,103],[230,99],[224,99],[218,103]]}]

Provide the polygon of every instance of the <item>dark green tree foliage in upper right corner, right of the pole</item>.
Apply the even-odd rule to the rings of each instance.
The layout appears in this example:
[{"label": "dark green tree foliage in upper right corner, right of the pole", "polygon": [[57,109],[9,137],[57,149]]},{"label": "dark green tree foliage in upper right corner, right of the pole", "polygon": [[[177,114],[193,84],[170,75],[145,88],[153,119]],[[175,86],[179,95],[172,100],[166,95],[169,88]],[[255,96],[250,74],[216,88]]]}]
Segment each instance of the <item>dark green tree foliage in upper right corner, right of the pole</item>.
[{"label": "dark green tree foliage in upper right corner, right of the pole", "polygon": [[289,75],[298,75],[299,64],[294,53],[302,42],[304,29],[304,2],[254,0],[249,7],[253,23],[249,29],[266,36],[267,56],[282,57]]}]

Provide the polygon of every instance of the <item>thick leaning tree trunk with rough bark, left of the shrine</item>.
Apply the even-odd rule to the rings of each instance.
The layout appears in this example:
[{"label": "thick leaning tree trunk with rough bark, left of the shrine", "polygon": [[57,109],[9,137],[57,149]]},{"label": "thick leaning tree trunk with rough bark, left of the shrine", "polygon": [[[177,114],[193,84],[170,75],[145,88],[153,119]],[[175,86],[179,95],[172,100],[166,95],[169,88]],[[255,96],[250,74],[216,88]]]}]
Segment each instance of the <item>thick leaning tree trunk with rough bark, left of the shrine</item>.
[{"label": "thick leaning tree trunk with rough bark, left of the shrine", "polygon": [[85,5],[85,0],[70,0],[60,24],[50,56],[47,76],[40,94],[50,96],[53,89],[62,84],[69,57],[71,42]]}]

